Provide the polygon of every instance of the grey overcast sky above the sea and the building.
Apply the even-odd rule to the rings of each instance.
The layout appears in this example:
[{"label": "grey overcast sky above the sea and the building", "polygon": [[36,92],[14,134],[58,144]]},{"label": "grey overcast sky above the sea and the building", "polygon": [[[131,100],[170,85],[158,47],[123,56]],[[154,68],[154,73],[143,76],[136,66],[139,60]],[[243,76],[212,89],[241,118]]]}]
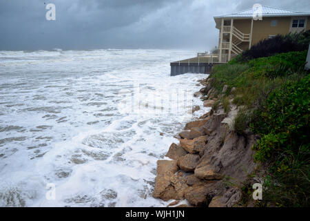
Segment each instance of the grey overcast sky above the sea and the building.
[{"label": "grey overcast sky above the sea and the building", "polygon": [[[56,21],[45,19],[45,3]],[[218,44],[213,17],[254,3],[310,12],[309,0],[0,0],[0,50],[209,50]]]}]

